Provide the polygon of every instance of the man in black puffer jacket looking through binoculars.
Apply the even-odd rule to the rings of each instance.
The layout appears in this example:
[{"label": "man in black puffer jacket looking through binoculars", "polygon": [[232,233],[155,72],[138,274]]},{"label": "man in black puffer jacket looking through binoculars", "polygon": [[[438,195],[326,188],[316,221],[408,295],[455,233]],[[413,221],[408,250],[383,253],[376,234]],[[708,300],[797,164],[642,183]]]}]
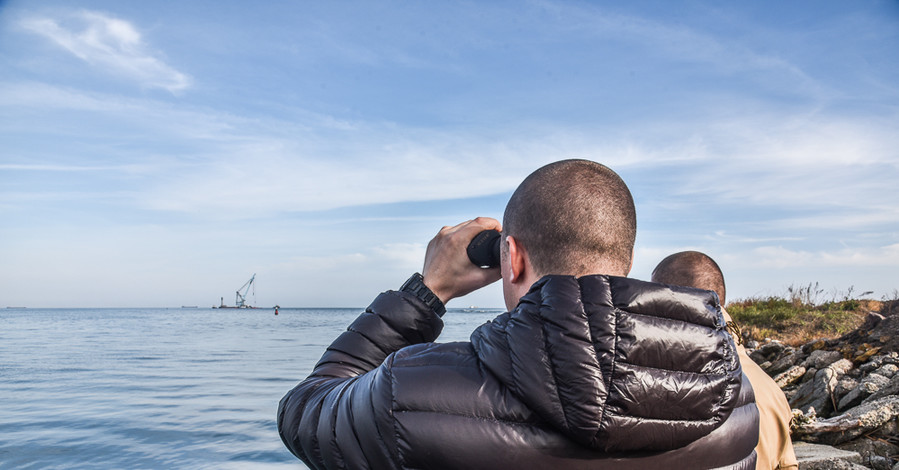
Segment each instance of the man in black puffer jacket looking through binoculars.
[{"label": "man in black puffer jacket looking through binoculars", "polygon": [[[627,276],[634,201],[611,169],[551,163],[503,224],[444,227],[281,400],[313,468],[755,468],[758,411],[714,294]],[[502,230],[500,266],[466,247]],[[434,343],[449,300],[502,278],[508,312]]]}]

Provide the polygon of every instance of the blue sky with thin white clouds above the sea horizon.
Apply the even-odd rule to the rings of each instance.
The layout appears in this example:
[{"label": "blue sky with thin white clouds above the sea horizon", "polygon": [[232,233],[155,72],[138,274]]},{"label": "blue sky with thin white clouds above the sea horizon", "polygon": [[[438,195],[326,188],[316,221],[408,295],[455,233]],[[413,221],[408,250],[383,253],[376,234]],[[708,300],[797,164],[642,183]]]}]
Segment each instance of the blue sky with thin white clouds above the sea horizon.
[{"label": "blue sky with thin white clouds above the sea horizon", "polygon": [[899,288],[895,1],[0,0],[0,142],[0,308],[364,307],[566,158],[631,277]]}]

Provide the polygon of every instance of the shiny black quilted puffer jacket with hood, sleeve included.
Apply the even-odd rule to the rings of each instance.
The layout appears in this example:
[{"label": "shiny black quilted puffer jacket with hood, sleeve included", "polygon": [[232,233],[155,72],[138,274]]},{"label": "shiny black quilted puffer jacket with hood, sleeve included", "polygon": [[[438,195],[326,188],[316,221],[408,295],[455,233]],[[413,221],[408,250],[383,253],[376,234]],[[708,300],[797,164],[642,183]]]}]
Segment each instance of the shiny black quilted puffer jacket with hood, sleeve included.
[{"label": "shiny black quilted puffer jacket with hood, sleeve included", "polygon": [[758,411],[717,297],[547,276],[471,342],[381,294],[278,408],[312,468],[754,469]]}]

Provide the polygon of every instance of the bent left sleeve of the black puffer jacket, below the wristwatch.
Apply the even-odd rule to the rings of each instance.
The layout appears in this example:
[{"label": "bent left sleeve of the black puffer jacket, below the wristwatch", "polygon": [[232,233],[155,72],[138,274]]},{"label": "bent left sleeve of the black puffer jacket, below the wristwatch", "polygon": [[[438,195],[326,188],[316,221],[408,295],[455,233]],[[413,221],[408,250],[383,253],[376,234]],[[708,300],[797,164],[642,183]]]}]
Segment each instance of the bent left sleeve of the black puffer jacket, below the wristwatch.
[{"label": "bent left sleeve of the black puffer jacket, below the wristwatch", "polygon": [[442,329],[414,296],[379,295],[281,399],[281,440],[310,468],[395,468],[391,354]]}]

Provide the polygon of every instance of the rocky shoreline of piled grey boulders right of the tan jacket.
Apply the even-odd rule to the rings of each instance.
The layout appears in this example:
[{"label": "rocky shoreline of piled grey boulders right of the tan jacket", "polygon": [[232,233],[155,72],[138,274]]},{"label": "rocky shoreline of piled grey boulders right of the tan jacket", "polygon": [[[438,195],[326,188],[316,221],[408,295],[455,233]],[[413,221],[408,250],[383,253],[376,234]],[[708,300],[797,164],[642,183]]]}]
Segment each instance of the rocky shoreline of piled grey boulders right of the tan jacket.
[{"label": "rocky shoreline of piled grey boulders right of the tan jacket", "polygon": [[800,469],[899,470],[899,302],[837,339],[745,343],[793,408]]}]

